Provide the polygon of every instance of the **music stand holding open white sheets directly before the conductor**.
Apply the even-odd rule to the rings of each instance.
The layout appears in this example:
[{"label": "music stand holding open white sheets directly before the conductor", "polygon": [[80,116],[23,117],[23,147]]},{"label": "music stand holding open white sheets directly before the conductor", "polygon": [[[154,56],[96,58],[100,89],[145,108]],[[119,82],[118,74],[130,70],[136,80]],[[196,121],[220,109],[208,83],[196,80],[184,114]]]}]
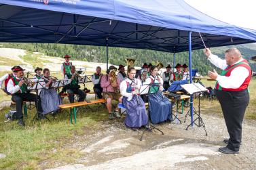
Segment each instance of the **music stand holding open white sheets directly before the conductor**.
[{"label": "music stand holding open white sheets directly before the conductor", "polygon": [[[205,125],[204,125],[204,121],[202,121],[202,117],[200,116],[200,95],[202,93],[204,93],[205,91],[207,91],[207,89],[200,85],[199,83],[191,83],[191,84],[187,84],[187,85],[182,85],[183,89],[185,89],[185,91],[187,91],[187,93],[189,93],[190,95],[194,95],[194,94],[199,94],[198,95],[198,112],[196,112],[196,109],[193,108],[193,111],[194,111],[194,115],[198,116],[196,119],[194,119],[193,123],[197,126],[197,127],[203,127],[204,128],[204,131],[205,131],[205,135],[207,135],[207,131],[205,129]],[[190,111],[190,109],[189,109]],[[186,116],[185,116],[185,121],[187,119],[187,115],[189,115],[189,111],[187,112]],[[184,121],[184,123],[185,123]],[[198,123],[196,123],[196,121],[198,121]],[[192,124],[193,123],[190,123],[186,130],[189,128],[189,126],[192,127]]]}]

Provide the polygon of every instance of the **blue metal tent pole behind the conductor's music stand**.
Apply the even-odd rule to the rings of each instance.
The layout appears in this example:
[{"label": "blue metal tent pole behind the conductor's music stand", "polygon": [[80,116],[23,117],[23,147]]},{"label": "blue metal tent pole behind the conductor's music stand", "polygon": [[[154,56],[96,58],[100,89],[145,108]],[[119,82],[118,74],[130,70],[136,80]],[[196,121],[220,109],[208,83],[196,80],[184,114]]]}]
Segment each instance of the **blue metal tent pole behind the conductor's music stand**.
[{"label": "blue metal tent pole behind the conductor's music stand", "polygon": [[[189,81],[190,83],[193,83],[192,81],[192,45],[191,45],[191,34],[192,32],[189,31]],[[191,116],[191,127],[194,127],[194,120],[193,120],[193,95],[190,95],[190,116]]]}]

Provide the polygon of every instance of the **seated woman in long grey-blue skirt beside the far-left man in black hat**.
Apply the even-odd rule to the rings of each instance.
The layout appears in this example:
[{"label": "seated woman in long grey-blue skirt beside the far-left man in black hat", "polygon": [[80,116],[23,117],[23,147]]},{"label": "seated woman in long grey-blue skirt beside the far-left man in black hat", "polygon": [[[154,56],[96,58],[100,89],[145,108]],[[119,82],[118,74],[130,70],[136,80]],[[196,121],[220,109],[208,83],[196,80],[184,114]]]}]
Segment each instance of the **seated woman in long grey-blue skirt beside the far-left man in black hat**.
[{"label": "seated woman in long grey-blue skirt beside the far-left man in black hat", "polygon": [[56,80],[56,77],[50,77],[50,70],[48,68],[43,69],[43,77],[39,79],[39,83],[44,85],[44,88],[39,91],[43,108],[42,114],[56,112],[58,106],[62,104],[60,96],[56,89],[53,88]]}]

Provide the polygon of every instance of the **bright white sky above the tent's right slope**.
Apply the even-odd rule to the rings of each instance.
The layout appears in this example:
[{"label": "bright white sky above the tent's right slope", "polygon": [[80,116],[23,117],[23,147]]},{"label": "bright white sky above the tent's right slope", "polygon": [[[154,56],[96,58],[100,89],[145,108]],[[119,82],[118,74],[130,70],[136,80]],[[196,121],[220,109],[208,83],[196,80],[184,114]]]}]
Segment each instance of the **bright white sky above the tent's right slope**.
[{"label": "bright white sky above the tent's right slope", "polygon": [[255,0],[185,0],[189,5],[213,18],[256,30]]}]

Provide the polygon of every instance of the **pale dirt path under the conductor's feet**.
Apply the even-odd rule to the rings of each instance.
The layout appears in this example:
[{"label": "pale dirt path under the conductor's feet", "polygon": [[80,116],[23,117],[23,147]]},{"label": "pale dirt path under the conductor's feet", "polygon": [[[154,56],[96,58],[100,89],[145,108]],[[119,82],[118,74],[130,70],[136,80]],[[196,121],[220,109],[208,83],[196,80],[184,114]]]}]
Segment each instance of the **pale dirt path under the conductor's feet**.
[{"label": "pale dirt path under the conductor's feet", "polygon": [[[184,118],[183,118],[184,119]],[[101,131],[87,129],[69,148],[77,148],[82,158],[73,165],[56,163],[55,169],[256,169],[255,121],[244,121],[240,154],[217,152],[226,138],[224,121],[219,116],[203,116],[208,136],[202,128],[185,130],[185,125],[164,123],[158,131],[126,129],[122,120],[103,121]],[[45,163],[43,163],[45,164]]]}]

